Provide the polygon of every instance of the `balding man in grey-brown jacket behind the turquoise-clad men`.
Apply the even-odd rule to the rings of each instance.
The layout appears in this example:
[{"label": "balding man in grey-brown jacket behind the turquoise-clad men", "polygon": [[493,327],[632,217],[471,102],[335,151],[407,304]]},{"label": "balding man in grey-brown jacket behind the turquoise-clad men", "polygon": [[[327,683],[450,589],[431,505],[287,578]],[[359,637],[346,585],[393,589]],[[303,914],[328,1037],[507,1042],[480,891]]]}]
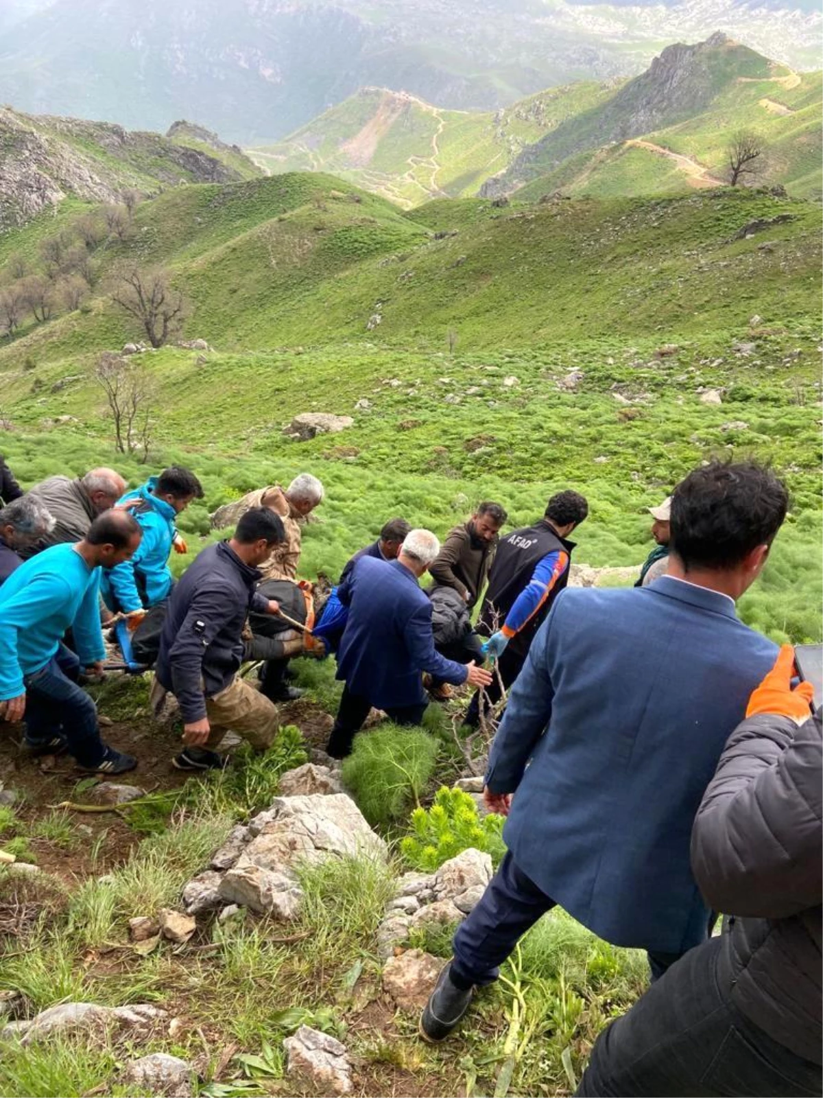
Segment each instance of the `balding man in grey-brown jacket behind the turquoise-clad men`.
[{"label": "balding man in grey-brown jacket behind the turquoise-clad men", "polygon": [[53,515],[55,525],[36,546],[27,548],[32,557],[49,546],[82,541],[98,515],[113,507],[126,490],[126,482],[114,469],[91,469],[84,477],[49,477],[35,484],[30,494]]}]

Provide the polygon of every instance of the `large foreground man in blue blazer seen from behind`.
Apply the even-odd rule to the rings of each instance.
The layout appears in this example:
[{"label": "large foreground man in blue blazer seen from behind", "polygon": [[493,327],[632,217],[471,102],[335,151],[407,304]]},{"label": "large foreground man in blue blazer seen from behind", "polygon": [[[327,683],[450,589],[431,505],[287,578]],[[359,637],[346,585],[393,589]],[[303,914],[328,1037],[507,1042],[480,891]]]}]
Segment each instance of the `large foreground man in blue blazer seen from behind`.
[{"label": "large foreground man in blue blazer seen from behind", "polygon": [[697,469],[672,500],[667,575],[557,597],[486,774],[486,804],[508,816],[508,851],[454,937],[424,1037],[448,1037],[473,988],[496,979],[518,939],[556,904],[613,945],[645,949],[653,978],[706,940],[691,826],[777,656],[734,604],[758,576],[787,507],[783,484],[756,464]]}]

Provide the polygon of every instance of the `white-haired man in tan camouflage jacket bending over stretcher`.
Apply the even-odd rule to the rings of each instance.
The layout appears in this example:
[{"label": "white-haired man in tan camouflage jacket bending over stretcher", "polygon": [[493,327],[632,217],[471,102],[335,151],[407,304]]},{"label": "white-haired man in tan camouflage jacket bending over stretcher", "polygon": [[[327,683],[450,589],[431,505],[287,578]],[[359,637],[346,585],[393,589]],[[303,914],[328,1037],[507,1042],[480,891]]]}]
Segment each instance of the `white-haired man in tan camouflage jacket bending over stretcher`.
[{"label": "white-haired man in tan camouflage jacket bending over stretcher", "polygon": [[[312,473],[300,473],[286,489],[279,484],[247,492],[236,503],[226,504],[212,515],[212,526],[236,526],[251,507],[268,507],[279,515],[285,539],[277,545],[271,557],[260,565],[263,580],[288,580],[295,583],[300,565],[301,527],[314,508],[323,502],[325,490]],[[267,660],[260,691],[271,702],[295,702],[303,691],[289,685],[289,660]]]}]

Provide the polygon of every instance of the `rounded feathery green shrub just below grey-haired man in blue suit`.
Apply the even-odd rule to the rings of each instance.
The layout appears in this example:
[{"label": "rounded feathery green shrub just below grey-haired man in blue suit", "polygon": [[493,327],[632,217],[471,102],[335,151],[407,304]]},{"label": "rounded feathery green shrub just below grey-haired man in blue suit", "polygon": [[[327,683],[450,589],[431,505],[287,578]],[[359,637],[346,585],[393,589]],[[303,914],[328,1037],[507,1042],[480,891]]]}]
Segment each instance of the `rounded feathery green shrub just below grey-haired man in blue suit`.
[{"label": "rounded feathery green shrub just below grey-haired man in blue suit", "polygon": [[437,741],[426,732],[382,725],[356,737],[343,762],[343,784],[372,827],[385,827],[419,802],[437,753]]}]

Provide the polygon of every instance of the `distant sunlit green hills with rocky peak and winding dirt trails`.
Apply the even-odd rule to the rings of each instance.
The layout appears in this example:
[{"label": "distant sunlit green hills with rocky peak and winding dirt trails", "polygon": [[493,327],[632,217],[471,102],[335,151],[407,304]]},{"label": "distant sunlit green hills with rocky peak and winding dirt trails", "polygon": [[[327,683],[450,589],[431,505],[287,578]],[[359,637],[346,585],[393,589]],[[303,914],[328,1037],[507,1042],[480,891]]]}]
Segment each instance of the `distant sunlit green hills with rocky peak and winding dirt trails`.
[{"label": "distant sunlit green hills with rocky peak and winding dirt trails", "polygon": [[715,34],[667,47],[632,80],[550,89],[496,114],[363,89],[250,156],[272,173],[329,171],[404,206],[478,193],[618,198],[724,183],[731,136],[753,130],[766,149],[756,181],[807,198],[823,187],[822,127],[823,74]]}]

